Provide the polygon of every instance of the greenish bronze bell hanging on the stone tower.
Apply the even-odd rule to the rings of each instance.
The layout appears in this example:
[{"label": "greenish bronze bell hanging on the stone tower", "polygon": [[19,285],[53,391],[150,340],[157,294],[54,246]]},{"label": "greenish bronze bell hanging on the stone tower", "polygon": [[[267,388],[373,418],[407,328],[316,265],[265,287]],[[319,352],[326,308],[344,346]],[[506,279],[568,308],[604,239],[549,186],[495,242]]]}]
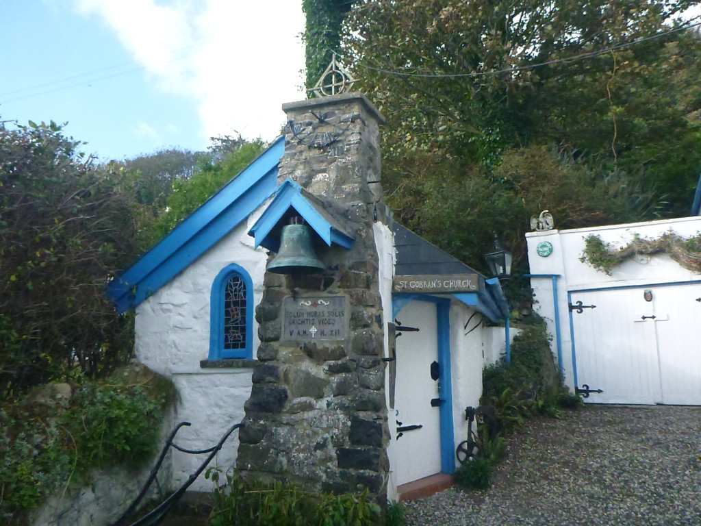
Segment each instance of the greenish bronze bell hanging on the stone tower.
[{"label": "greenish bronze bell hanging on the stone tower", "polygon": [[326,268],[311,246],[306,224],[287,224],[280,235],[280,250],[268,265],[274,274],[314,274]]}]

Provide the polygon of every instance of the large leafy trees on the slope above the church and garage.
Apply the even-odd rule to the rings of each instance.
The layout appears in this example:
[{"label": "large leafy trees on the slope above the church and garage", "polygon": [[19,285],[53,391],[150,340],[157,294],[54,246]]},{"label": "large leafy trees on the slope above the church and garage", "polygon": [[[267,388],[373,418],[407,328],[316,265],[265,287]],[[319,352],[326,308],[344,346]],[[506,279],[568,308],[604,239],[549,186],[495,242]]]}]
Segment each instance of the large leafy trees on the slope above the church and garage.
[{"label": "large leafy trees on the slope above the church and garage", "polygon": [[[694,146],[701,138],[699,88],[693,80],[701,41],[693,31],[670,30],[685,23],[674,16],[695,4],[358,2],[346,26],[346,64],[388,118],[383,181],[398,217],[427,233],[427,219],[441,210],[435,200],[416,200],[407,191],[423,184],[416,167],[426,163],[449,163],[454,184],[479,177],[476,187],[489,188],[485,198],[515,203],[508,207],[522,210],[509,216],[515,223],[503,224],[498,206],[493,220],[483,222],[514,242],[529,215],[540,211],[537,203],[561,210],[559,226],[648,219],[655,211],[650,191],[658,201],[666,194],[674,212],[688,213],[701,168],[701,151]],[[529,151],[519,153],[523,148]],[[540,162],[518,175],[527,185],[501,168],[507,158],[534,154],[543,156]],[[547,194],[552,156],[576,162],[591,177],[573,179],[579,190]],[[439,171],[429,170],[423,181],[442,184],[438,179],[447,178]],[[597,198],[617,196],[618,206],[599,206],[606,209],[599,215],[576,213],[582,196],[593,198],[592,184],[599,188]],[[459,199],[458,191],[444,196]],[[489,206],[482,210],[490,214]],[[479,223],[465,222],[465,215],[444,215],[442,224],[477,231]],[[477,254],[487,248],[473,247],[465,257],[479,264]]]}]

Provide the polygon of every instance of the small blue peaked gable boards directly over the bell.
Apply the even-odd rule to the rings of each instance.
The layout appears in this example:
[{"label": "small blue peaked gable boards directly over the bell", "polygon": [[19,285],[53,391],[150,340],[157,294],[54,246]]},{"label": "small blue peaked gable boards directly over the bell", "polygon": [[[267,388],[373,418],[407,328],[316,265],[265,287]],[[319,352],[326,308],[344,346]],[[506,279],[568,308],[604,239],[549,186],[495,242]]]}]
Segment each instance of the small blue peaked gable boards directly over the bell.
[{"label": "small blue peaked gable boards directly over the bell", "polygon": [[353,238],[334,224],[328,212],[318,203],[313,203],[304,195],[299,184],[290,179],[280,185],[273,202],[248,232],[255,238],[256,247],[261,246],[273,252],[280,250],[277,227],[290,208],[296,210],[327,245],[336,243],[344,248],[353,247]]}]

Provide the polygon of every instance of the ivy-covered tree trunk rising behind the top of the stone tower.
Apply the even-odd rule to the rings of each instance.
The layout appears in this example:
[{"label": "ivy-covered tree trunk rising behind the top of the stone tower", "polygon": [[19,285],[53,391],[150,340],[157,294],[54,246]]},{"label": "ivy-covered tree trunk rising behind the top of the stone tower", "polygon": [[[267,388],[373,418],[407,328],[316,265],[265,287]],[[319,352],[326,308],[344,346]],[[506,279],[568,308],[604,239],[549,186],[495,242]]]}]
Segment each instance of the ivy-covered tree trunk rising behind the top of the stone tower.
[{"label": "ivy-covered tree trunk rising behind the top of the stone tower", "polygon": [[341,25],[355,0],[303,0],[306,88],[311,89],[341,46]]}]

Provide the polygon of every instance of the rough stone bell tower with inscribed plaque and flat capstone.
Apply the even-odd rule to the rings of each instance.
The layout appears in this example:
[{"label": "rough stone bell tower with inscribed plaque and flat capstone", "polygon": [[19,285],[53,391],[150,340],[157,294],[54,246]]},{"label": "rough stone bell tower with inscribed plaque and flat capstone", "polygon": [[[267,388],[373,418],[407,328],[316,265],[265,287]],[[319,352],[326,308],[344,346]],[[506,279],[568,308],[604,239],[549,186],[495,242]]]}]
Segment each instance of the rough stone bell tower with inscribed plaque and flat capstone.
[{"label": "rough stone bell tower with inscribed plaque and flat capstone", "polygon": [[[237,466],[245,476],[307,490],[368,488],[383,501],[389,441],[383,358],[392,321],[383,306],[391,308],[393,250],[379,184],[384,119],[360,93],[283,109],[280,182],[296,184],[287,181],[292,197],[278,194],[263,219],[307,220],[325,268],[304,276],[266,272],[256,309],[259,364]],[[330,232],[326,243],[318,225]],[[279,229],[271,227],[271,243]]]}]

